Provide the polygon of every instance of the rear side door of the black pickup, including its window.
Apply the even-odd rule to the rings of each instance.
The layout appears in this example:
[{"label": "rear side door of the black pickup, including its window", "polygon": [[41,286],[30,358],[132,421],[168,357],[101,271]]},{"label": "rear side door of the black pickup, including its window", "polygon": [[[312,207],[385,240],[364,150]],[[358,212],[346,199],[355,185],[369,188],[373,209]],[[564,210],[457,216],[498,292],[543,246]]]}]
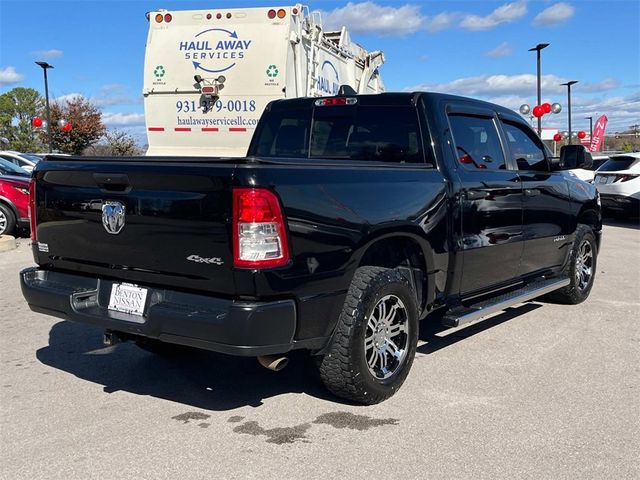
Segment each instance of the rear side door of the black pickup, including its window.
[{"label": "rear side door of the black pickup, including its window", "polygon": [[463,255],[460,293],[511,283],[522,254],[522,186],[509,170],[493,110],[450,106],[460,179]]}]

